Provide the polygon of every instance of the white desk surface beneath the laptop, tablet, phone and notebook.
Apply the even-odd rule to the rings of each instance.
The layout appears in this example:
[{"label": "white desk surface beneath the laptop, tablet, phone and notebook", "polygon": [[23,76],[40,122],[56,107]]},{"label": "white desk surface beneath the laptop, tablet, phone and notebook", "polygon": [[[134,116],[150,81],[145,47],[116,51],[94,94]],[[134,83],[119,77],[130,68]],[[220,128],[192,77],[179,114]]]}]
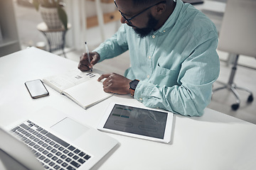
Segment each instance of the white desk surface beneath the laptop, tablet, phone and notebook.
[{"label": "white desk surface beneath the laptop, tablet, phone and notebook", "polygon": [[[113,96],[84,110],[50,89],[50,96],[32,99],[24,82],[58,74],[78,63],[35,47],[0,58],[0,125],[6,126],[23,115],[53,107],[71,118],[97,127],[112,101],[135,103],[131,96]],[[174,142],[162,144],[121,135],[110,136],[119,146],[94,169],[255,169],[256,125],[206,108],[200,118],[176,115]],[[1,138],[1,137],[0,137]]]}]

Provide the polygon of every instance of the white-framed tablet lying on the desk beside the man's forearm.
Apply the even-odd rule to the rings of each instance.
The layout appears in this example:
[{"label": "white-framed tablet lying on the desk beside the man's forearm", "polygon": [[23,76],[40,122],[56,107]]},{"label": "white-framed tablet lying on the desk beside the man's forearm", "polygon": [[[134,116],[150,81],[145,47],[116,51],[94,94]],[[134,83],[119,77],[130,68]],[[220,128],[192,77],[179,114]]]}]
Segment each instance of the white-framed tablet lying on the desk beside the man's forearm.
[{"label": "white-framed tablet lying on the desk beside the man's forearm", "polygon": [[169,143],[174,113],[110,103],[98,130]]}]

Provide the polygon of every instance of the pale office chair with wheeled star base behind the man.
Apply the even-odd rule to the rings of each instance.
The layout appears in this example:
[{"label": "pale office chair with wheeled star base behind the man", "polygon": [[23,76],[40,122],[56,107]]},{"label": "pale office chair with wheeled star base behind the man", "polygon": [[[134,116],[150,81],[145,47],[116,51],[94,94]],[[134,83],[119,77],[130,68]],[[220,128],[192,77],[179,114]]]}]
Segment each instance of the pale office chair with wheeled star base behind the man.
[{"label": "pale office chair with wheeled star base behind the man", "polygon": [[215,91],[229,89],[236,98],[231,108],[236,111],[240,107],[240,97],[236,89],[247,91],[250,95],[247,102],[253,101],[252,91],[234,83],[239,55],[256,57],[256,0],[228,0],[220,28],[218,49],[235,54],[235,61],[228,84],[223,84]]}]

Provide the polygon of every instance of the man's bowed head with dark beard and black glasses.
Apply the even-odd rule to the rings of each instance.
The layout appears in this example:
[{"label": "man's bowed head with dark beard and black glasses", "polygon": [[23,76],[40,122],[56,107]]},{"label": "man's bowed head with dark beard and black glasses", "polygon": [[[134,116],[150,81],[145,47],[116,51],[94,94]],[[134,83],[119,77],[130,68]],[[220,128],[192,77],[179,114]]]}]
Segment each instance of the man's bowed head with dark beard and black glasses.
[{"label": "man's bowed head with dark beard and black glasses", "polygon": [[[168,1],[168,0],[166,0]],[[166,1],[160,0],[115,0],[122,15],[121,23],[134,28],[140,38],[162,26],[161,16],[166,11]]]}]

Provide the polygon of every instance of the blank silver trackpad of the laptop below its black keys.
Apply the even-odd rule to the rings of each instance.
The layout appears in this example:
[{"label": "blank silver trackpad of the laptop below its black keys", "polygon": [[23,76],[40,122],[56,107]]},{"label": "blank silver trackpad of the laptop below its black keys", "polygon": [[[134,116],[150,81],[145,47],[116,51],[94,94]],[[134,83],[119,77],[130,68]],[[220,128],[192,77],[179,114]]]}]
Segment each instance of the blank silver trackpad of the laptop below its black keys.
[{"label": "blank silver trackpad of the laptop below its black keys", "polygon": [[50,128],[53,129],[55,132],[58,132],[60,135],[68,137],[68,139],[70,140],[76,140],[87,130],[89,130],[89,128],[75,122],[75,120],[72,120],[70,118],[64,118]]}]

